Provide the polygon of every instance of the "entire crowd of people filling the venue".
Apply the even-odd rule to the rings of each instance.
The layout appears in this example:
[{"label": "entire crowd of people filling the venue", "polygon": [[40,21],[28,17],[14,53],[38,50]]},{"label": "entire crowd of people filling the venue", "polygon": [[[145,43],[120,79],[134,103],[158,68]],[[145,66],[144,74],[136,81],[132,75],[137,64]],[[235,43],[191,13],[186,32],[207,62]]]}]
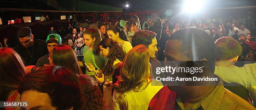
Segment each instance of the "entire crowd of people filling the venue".
[{"label": "entire crowd of people filling the venue", "polygon": [[[65,37],[51,27],[46,41],[20,28],[20,43],[0,48],[0,101],[28,102],[21,110],[255,110],[250,30],[205,19],[132,16],[79,31],[69,24]],[[218,80],[173,85],[157,77],[193,75],[156,73],[165,66],[204,67],[194,76]]]}]

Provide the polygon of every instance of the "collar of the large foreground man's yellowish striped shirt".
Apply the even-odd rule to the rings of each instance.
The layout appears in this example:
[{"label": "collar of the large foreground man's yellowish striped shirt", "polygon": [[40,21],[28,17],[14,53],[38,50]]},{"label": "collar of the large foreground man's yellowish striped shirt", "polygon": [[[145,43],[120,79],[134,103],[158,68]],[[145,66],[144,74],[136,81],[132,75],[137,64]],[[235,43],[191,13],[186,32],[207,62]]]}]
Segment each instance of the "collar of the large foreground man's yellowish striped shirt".
[{"label": "collar of the large foreground man's yellowish striped shirt", "polygon": [[[220,80],[220,78],[218,79]],[[218,85],[216,85],[214,90],[212,90],[212,92],[207,97],[205,97],[200,102],[197,102],[187,107],[186,109],[184,108],[182,99],[179,95],[177,96],[177,99],[175,101],[177,102],[177,104],[182,110],[196,110],[200,106],[202,106],[204,110],[218,110],[219,109],[218,105],[220,105],[220,100],[222,100],[224,92],[225,90],[224,90],[223,82],[222,80],[220,80],[218,82]]]}]

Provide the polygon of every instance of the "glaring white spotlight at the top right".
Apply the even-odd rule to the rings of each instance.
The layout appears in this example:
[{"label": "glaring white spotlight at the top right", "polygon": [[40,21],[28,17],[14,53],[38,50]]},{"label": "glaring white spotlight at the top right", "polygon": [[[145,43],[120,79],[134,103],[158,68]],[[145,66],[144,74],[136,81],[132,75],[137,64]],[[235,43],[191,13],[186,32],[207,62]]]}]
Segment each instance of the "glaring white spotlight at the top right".
[{"label": "glaring white spotlight at the top right", "polygon": [[204,0],[185,0],[183,10],[187,13],[197,13],[203,4]]}]

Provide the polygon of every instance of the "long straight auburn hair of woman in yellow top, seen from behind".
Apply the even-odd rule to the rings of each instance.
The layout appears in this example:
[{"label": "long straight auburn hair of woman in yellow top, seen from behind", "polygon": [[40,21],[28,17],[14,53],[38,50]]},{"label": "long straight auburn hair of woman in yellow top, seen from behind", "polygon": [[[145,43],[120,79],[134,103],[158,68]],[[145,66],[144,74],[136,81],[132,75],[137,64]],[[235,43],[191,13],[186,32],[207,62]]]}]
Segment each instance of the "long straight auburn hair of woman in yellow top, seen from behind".
[{"label": "long straight auburn hair of woman in yellow top, seen from behind", "polygon": [[151,78],[149,53],[145,45],[137,45],[133,47],[123,60],[118,82],[113,86],[117,92],[128,92],[133,90],[139,92],[144,90],[145,82]]}]

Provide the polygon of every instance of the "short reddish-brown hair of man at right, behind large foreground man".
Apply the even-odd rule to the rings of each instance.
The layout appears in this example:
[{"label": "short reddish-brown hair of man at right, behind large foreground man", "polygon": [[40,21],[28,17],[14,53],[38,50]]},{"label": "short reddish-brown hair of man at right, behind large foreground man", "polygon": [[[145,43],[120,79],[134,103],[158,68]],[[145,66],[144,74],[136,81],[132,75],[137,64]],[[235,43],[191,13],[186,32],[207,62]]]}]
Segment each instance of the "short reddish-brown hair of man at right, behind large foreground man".
[{"label": "short reddish-brown hair of man at right, behind large foreground man", "polygon": [[229,60],[240,56],[242,47],[238,41],[232,37],[220,37],[215,41],[216,60]]}]

